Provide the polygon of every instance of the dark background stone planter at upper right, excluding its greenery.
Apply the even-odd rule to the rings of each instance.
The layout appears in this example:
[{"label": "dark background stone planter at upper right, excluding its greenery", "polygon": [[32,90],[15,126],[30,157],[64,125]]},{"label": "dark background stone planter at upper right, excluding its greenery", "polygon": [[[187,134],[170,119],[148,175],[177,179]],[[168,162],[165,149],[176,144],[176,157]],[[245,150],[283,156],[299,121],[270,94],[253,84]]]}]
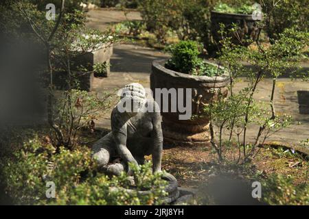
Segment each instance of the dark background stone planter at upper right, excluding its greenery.
[{"label": "dark background stone planter at upper right, excluding its greenery", "polygon": [[[220,31],[220,23],[225,25],[225,30],[228,32],[233,26],[232,24],[238,25],[238,31],[236,33],[231,33],[232,42],[234,44],[242,44],[244,46],[249,46],[249,42],[243,42],[243,40],[251,39],[257,40],[259,34],[259,28],[257,27],[257,22],[260,20],[253,20],[252,14],[230,14],[211,11],[211,34],[214,40],[218,43],[222,40],[221,35],[218,33]],[[238,40],[238,36],[240,40]]]}]

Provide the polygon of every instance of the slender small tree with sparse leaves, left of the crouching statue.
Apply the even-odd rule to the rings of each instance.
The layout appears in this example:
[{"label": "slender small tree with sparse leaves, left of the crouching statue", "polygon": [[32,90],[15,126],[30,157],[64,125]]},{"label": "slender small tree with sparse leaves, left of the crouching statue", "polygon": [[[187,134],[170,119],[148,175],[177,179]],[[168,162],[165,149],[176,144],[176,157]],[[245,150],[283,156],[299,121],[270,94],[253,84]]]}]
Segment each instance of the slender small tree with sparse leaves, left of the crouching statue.
[{"label": "slender small tree with sparse leaves, left of the crouching statue", "polygon": [[[76,131],[80,129],[80,123],[85,118],[84,114],[106,109],[107,105],[99,102],[108,99],[108,96],[100,101],[94,99],[93,96],[87,99],[87,95],[84,93],[79,93],[80,96],[76,97],[76,92],[72,91],[78,88],[78,85],[76,86],[74,83],[74,78],[91,70],[87,66],[76,66],[76,59],[96,49],[110,47],[117,41],[117,34],[111,30],[102,33],[101,31],[87,29],[84,27],[85,16],[81,11],[73,10],[71,13],[65,13],[65,0],[61,1],[61,8],[56,21],[47,21],[45,12],[37,10],[34,5],[27,1],[15,0],[13,5],[26,18],[36,39],[45,47],[47,64],[45,73],[49,74],[48,122],[55,133],[55,144],[71,147],[72,140],[75,140]],[[58,101],[58,103],[64,102],[61,107],[55,107],[54,101],[53,74],[55,70],[67,73],[68,91],[62,96],[62,98],[65,97],[65,100]],[[73,95],[76,99],[72,97]],[[84,100],[87,104],[82,105],[80,103],[82,112],[76,117],[74,112],[78,111],[77,100]],[[69,117],[67,117],[68,115]],[[64,125],[64,123],[67,124]]]}]

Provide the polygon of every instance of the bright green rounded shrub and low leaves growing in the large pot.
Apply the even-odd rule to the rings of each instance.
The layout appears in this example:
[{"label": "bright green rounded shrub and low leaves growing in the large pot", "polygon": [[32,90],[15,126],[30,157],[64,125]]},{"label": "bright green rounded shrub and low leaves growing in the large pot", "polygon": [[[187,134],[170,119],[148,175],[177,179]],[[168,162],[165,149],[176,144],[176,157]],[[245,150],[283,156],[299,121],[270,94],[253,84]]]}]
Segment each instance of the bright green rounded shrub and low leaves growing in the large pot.
[{"label": "bright green rounded shrub and low leaves growing in the large pot", "polygon": [[165,64],[167,68],[185,74],[206,75],[209,77],[224,73],[221,68],[207,64],[198,57],[200,51],[197,42],[191,40],[181,41],[169,47],[168,50],[172,53],[172,57]]}]

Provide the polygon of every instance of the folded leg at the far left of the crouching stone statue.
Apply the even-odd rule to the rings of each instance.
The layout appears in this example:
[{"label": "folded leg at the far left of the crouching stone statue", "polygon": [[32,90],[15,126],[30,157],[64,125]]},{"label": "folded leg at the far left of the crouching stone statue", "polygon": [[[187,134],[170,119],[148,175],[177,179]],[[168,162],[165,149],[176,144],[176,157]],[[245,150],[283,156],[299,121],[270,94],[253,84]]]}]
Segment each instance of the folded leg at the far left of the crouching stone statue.
[{"label": "folded leg at the far left of the crouching stone statue", "polygon": [[111,157],[115,156],[115,142],[112,133],[95,142],[92,147],[92,157],[95,159],[99,166],[106,166],[110,162]]}]

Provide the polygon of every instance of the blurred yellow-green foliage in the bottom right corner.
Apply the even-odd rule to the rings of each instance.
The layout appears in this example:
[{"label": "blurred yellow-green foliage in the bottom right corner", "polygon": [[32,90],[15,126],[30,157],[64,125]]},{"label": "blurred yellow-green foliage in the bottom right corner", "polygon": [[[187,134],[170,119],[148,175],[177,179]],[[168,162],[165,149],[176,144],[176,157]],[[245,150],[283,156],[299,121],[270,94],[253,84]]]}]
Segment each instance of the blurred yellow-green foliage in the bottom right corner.
[{"label": "blurred yellow-green foliage in the bottom right corner", "polygon": [[293,177],[270,175],[261,181],[262,201],[269,205],[309,205],[309,184],[294,185]]}]

